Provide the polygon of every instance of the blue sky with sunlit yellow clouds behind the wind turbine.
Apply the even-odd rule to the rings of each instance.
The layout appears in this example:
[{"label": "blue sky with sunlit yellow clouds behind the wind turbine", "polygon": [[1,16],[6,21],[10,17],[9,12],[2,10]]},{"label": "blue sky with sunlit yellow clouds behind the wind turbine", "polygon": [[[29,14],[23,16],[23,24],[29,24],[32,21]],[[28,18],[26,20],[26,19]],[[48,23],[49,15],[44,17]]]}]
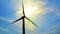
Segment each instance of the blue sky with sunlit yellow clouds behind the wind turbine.
[{"label": "blue sky with sunlit yellow clouds behind the wind turbine", "polygon": [[[22,34],[22,0],[0,0],[0,34]],[[60,0],[24,0],[26,16],[38,25],[26,20],[26,34],[60,34]]]}]

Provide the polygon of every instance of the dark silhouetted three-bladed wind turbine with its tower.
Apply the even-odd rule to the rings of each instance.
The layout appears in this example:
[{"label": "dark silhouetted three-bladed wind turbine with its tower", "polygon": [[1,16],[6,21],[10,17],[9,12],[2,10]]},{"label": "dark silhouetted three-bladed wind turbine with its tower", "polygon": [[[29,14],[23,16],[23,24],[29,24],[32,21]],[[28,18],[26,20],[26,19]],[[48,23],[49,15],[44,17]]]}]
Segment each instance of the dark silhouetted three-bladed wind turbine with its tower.
[{"label": "dark silhouetted three-bladed wind turbine with its tower", "polygon": [[34,22],[32,22],[28,17],[26,17],[25,16],[25,12],[24,12],[24,4],[23,4],[23,1],[22,1],[22,9],[23,9],[23,16],[21,17],[21,18],[19,18],[19,19],[17,19],[17,20],[15,20],[15,21],[13,21],[11,24],[13,24],[13,23],[15,23],[15,22],[17,22],[17,21],[19,21],[19,20],[21,20],[22,19],[22,22],[23,22],[23,34],[25,34],[25,19],[24,18],[26,18],[27,20],[29,20],[32,24],[34,24],[36,27],[38,27]]}]

